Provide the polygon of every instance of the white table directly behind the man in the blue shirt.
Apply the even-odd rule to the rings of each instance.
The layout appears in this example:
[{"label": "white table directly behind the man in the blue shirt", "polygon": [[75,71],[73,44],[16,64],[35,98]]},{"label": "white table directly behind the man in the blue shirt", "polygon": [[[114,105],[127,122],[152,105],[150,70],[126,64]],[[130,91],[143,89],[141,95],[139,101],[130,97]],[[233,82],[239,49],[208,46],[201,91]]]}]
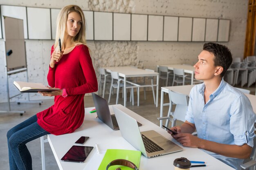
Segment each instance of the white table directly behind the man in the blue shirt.
[{"label": "white table directly behind the man in the blue shirt", "polygon": [[[160,117],[163,117],[163,106],[169,105],[169,103],[164,104],[164,93],[168,93],[168,91],[171,90],[171,91],[175,91],[175,92],[182,93],[189,96],[189,93],[193,86],[195,85],[161,87]],[[249,98],[252,104],[254,113],[256,113],[256,104],[255,104],[256,95],[250,95],[250,94],[245,94],[245,95]],[[163,120],[160,121],[160,127],[162,127],[162,121]]]}]

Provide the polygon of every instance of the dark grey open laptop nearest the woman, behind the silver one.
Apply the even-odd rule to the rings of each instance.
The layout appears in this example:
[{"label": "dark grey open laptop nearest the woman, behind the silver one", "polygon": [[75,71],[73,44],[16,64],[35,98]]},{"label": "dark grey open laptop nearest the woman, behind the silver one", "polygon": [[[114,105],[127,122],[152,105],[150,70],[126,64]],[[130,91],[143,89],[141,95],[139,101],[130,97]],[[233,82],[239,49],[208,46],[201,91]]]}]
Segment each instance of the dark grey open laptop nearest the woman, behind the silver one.
[{"label": "dark grey open laptop nearest the woman, behind the silver one", "polygon": [[[99,119],[113,130],[119,130],[117,119],[115,115],[110,114],[108,102],[106,101],[106,99],[100,97],[99,95],[96,95],[95,93],[92,93],[92,98]],[[137,122],[137,126],[141,126],[141,124]]]}]

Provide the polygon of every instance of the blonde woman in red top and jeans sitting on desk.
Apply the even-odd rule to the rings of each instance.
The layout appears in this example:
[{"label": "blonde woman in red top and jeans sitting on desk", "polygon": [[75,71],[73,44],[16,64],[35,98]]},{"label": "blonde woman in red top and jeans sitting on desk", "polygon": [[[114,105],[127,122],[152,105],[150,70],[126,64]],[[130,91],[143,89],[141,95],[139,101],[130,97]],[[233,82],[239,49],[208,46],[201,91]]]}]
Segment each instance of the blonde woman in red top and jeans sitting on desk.
[{"label": "blonde woman in red top and jeans sitting on desk", "polygon": [[[58,46],[59,38],[62,51]],[[49,86],[61,90],[38,93],[54,96],[54,105],[7,132],[10,170],[32,170],[27,142],[47,134],[72,133],[79,128],[84,119],[84,94],[98,90],[86,46],[85,17],[76,5],[63,7],[58,14],[47,80]]]}]

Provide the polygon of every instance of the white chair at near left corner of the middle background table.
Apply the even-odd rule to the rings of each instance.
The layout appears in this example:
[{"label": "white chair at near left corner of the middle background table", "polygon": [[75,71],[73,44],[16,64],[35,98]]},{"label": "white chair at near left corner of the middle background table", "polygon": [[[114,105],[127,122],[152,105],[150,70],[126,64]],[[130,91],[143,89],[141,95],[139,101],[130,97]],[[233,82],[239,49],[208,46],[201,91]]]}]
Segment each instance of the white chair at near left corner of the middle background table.
[{"label": "white chair at near left corner of the middle background table", "polygon": [[[118,72],[111,71],[111,85],[110,85],[110,91],[109,91],[109,97],[108,97],[108,103],[110,102],[110,97],[111,97],[111,92],[112,88],[117,88],[117,100],[116,104],[118,104],[118,99],[119,99],[119,89],[120,87],[123,87],[123,91],[126,90],[124,89],[124,83],[121,83],[121,81],[124,81],[124,79],[119,78]],[[130,98],[132,99],[132,106],[134,105],[134,95],[133,95],[133,88],[132,84],[129,84],[126,82],[126,88],[131,88],[131,93],[130,93]]]}]

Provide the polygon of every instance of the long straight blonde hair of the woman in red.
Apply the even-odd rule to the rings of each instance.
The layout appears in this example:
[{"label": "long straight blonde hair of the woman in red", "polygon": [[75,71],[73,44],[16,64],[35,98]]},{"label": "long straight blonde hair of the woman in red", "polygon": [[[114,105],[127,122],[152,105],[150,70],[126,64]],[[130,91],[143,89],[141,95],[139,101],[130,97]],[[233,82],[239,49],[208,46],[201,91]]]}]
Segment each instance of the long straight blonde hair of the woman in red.
[{"label": "long straight blonde hair of the woman in red", "polygon": [[[64,35],[65,35],[65,30],[66,30],[66,24],[67,24],[67,16],[71,12],[76,12],[79,13],[81,18],[82,18],[82,24],[81,24],[81,29],[79,32],[76,34],[75,37],[72,38],[72,42],[75,45],[79,44],[85,44],[86,45],[86,38],[85,38],[85,16],[83,14],[82,9],[79,6],[76,5],[67,5],[63,7],[58,13],[57,17],[57,23],[56,23],[56,37],[55,37],[55,43],[54,43],[54,49],[58,50],[58,39],[61,38],[61,44],[64,42]],[[56,48],[58,47],[58,48]]]}]

